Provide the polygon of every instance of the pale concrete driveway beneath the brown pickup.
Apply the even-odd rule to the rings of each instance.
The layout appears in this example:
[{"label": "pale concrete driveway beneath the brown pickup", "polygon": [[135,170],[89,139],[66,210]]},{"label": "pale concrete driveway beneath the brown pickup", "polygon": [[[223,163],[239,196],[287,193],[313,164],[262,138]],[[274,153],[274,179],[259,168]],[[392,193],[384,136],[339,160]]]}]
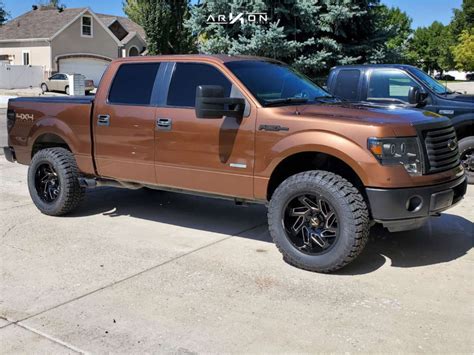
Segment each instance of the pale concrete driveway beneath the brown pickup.
[{"label": "pale concrete driveway beneath the brown pickup", "polygon": [[55,218],[26,172],[0,156],[1,353],[474,351],[473,186],[322,275],[282,260],[264,206],[102,188]]}]

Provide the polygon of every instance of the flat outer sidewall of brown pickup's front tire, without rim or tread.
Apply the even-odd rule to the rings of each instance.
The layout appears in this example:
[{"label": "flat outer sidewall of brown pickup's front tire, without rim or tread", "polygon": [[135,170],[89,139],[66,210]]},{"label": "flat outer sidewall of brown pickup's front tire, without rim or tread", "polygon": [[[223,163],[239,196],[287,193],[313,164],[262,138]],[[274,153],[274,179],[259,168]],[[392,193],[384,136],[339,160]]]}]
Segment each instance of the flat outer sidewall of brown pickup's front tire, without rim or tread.
[{"label": "flat outer sidewall of brown pickup's front tire, without rim or tread", "polygon": [[[309,255],[298,250],[287,237],[282,223],[286,205],[294,197],[303,193],[316,194],[324,198],[331,204],[338,218],[339,235],[335,244],[328,251],[318,255]],[[275,201],[273,201],[274,199]],[[307,265],[310,268],[331,268],[335,260],[340,259],[341,256],[345,256],[350,252],[354,244],[354,236],[356,233],[351,226],[354,225],[355,221],[346,196],[344,196],[341,190],[331,188],[317,181],[298,182],[297,184],[291,183],[277,189],[272,197],[272,201],[269,206],[269,209],[272,209],[270,213],[272,220],[270,220],[269,223],[277,226],[274,229],[275,242],[298,263]]]}]

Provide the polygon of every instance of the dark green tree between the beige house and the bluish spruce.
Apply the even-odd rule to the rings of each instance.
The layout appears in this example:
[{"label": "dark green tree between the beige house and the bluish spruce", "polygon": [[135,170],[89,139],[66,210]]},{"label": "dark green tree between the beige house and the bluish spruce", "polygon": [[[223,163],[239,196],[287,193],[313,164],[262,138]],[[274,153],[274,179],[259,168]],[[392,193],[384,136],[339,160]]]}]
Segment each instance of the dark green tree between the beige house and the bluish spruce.
[{"label": "dark green tree between the beige house and the bluish spruce", "polygon": [[188,0],[126,0],[124,12],[145,30],[150,54],[184,54],[194,51]]}]

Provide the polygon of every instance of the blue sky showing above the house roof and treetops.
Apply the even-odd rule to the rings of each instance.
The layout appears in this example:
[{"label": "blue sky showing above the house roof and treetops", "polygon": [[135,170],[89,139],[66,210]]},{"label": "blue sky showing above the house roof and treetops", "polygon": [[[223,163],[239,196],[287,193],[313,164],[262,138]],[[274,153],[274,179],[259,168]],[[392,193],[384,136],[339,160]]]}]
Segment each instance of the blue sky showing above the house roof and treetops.
[{"label": "blue sky showing above the house roof and treetops", "polygon": [[[7,11],[17,17],[31,10],[34,0],[3,0]],[[384,4],[396,6],[413,19],[412,27],[428,26],[433,21],[449,23],[453,8],[460,8],[462,0],[382,0]],[[90,7],[93,11],[123,16],[122,0],[62,0],[67,7]]]}]

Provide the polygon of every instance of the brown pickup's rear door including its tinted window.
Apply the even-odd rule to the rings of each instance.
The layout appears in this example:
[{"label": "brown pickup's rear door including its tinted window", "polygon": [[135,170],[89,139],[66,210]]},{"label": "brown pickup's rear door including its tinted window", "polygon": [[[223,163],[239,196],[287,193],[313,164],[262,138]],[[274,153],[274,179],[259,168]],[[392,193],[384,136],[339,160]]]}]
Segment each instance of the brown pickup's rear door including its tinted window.
[{"label": "brown pickup's rear door including its tinted window", "polygon": [[[96,96],[94,154],[100,176],[154,184],[156,62],[122,63]],[[107,73],[109,75],[109,73]]]}]

